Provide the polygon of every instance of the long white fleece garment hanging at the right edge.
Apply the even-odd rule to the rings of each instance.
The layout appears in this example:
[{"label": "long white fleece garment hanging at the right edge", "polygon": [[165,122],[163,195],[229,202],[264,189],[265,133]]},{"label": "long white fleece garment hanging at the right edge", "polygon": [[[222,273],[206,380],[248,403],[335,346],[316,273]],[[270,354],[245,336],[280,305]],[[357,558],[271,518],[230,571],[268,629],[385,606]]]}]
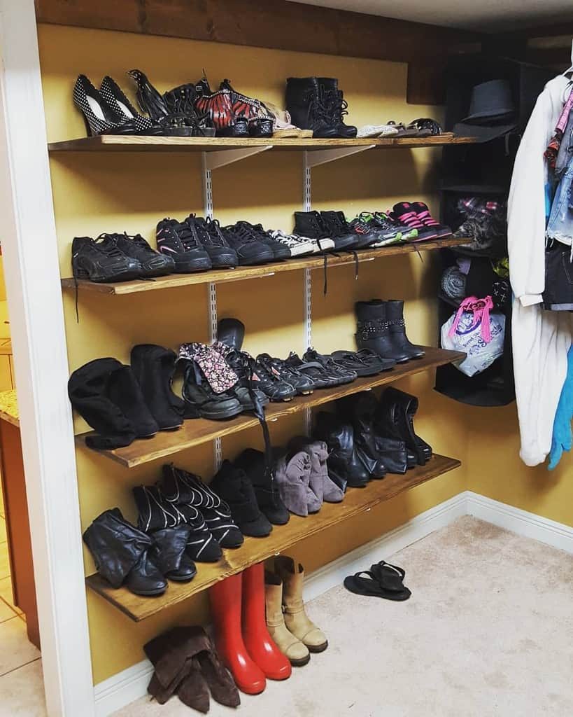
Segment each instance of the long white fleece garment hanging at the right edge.
[{"label": "long white fleece garment hanging at the right edge", "polygon": [[571,315],[545,311],[546,186],[544,151],[562,114],[569,81],[559,75],[537,99],[521,139],[508,202],[516,402],[526,465],[544,462],[552,444],[559,395],[572,344]]}]

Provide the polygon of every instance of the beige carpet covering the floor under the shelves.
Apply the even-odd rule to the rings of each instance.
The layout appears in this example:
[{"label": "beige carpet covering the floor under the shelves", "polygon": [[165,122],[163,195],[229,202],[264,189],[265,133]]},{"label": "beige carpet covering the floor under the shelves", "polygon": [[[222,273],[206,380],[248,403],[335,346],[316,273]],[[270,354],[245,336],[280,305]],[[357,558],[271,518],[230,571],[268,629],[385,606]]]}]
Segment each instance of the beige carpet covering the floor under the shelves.
[{"label": "beige carpet covering the floor under the shelves", "polygon": [[[408,602],[337,587],[309,604],[329,637],[284,683],[213,717],[571,717],[573,556],[461,518],[392,556]],[[365,566],[367,568],[368,566]],[[117,717],[182,717],[173,698]]]}]

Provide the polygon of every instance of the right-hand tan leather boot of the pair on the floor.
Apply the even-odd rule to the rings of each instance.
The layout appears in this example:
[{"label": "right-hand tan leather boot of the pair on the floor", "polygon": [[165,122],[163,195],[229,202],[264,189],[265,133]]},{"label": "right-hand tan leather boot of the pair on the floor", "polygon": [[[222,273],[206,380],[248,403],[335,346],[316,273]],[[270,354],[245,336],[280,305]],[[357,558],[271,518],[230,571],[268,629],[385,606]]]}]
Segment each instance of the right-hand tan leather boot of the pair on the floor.
[{"label": "right-hand tan leather boot of the pair on the floor", "polygon": [[326,650],[328,640],[324,632],[319,630],[304,612],[304,603],[302,602],[304,569],[302,565],[295,566],[292,558],[279,556],[274,559],[274,570],[283,582],[282,605],[284,624],[287,626],[287,630],[304,642],[310,652]]}]

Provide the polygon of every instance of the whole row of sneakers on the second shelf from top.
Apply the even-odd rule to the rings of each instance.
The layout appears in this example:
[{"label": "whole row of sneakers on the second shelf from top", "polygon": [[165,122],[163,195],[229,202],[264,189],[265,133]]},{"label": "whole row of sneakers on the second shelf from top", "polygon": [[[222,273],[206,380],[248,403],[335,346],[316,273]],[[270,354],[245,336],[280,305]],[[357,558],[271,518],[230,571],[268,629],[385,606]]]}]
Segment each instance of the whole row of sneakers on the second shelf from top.
[{"label": "whole row of sneakers on the second shelf from top", "polygon": [[292,233],[242,220],[222,227],[217,219],[196,214],[189,214],[183,222],[165,218],[157,225],[157,250],[140,234],[75,237],[72,273],[76,280],[93,282],[150,279],[422,242],[451,234],[422,201],[399,202],[388,212],[362,212],[350,222],[338,211],[295,212],[294,218]]}]

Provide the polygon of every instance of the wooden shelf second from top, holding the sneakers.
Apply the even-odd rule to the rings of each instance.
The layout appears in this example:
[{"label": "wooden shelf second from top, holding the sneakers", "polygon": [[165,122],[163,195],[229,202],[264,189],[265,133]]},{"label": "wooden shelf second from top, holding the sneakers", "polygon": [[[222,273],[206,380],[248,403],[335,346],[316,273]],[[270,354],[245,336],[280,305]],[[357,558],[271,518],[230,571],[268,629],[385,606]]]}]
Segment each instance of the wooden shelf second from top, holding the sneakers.
[{"label": "wooden shelf second from top, holding the sneakers", "polygon": [[[471,242],[471,239],[468,237],[447,237],[446,239],[435,239],[430,242],[415,242],[413,244],[400,245],[395,244],[393,246],[382,247],[380,249],[361,249],[357,250],[357,255],[359,262],[367,262],[400,254],[410,254],[411,252],[429,252],[436,249],[457,247],[461,244],[467,244],[468,242]],[[354,264],[355,259],[352,254],[348,252],[338,256],[328,256],[328,267]],[[208,272],[197,272],[196,274],[170,274],[168,276],[161,276],[157,279],[146,281],[135,280],[98,284],[92,281],[79,280],[77,285],[82,291],[93,291],[100,294],[135,294],[143,291],[172,289],[180,286],[193,286],[196,284],[208,284],[211,282],[224,283],[230,281],[241,281],[244,279],[257,279],[273,276],[274,274],[286,271],[295,271],[299,269],[322,269],[323,267],[324,257],[321,255],[302,257],[301,259],[289,259],[284,262],[273,262],[271,264],[263,264],[256,267],[219,269]],[[72,277],[62,279],[62,287],[64,289],[75,289],[74,279]]]}]

